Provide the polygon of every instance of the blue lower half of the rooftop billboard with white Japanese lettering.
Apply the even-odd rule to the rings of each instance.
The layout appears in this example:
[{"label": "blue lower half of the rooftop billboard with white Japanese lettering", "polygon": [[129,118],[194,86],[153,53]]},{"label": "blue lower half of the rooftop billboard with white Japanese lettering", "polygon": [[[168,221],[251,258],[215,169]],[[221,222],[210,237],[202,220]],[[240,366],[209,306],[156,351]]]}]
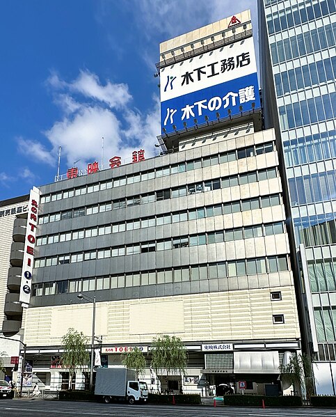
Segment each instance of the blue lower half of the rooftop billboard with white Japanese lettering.
[{"label": "blue lower half of the rooftop billboard with white Japanese lettering", "polygon": [[[161,102],[161,127],[167,133],[260,107],[257,73]],[[162,131],[164,132],[164,131]]]}]

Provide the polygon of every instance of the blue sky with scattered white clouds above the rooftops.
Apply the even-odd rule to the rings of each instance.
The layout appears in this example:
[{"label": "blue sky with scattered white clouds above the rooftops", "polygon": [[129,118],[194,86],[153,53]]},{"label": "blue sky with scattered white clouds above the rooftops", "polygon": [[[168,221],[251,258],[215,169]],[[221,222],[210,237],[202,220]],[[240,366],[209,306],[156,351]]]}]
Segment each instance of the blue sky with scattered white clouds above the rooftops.
[{"label": "blue sky with scattered white clouds above the rooftops", "polygon": [[155,155],[159,42],[257,0],[0,2],[0,200],[54,182],[77,162],[104,168],[133,150]]}]

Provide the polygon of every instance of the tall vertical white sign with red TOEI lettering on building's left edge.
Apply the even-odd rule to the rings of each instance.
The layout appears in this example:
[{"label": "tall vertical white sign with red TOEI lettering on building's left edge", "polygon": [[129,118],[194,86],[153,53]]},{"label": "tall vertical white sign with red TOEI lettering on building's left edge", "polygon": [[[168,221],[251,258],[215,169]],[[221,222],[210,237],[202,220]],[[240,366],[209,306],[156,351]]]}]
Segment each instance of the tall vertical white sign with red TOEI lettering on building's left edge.
[{"label": "tall vertical white sign with red TOEI lettering on building's left edge", "polygon": [[31,278],[33,275],[36,228],[38,227],[38,205],[40,190],[33,187],[29,196],[26,237],[24,239],[24,260],[22,265],[21,287],[19,301],[27,308],[31,299]]}]

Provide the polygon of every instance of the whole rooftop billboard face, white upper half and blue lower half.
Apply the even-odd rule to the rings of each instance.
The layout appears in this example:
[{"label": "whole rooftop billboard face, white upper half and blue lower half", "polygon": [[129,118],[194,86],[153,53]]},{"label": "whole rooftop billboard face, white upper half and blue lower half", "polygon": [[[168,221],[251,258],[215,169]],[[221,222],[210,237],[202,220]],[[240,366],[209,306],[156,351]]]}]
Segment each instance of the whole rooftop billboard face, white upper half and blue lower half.
[{"label": "whole rooftop billboard face, white upper half and blue lower half", "polygon": [[163,133],[260,107],[253,38],[162,68],[160,77]]}]

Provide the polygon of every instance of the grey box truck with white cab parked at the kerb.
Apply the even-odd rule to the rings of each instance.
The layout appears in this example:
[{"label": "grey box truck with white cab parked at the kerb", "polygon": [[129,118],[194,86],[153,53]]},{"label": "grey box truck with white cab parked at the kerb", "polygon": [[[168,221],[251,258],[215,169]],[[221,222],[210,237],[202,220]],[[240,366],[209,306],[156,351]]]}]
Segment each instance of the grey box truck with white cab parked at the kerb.
[{"label": "grey box truck with white cab parked at the kerb", "polygon": [[136,380],[136,372],[127,368],[98,368],[95,395],[106,403],[112,400],[125,400],[129,404],[147,401],[147,384]]}]

